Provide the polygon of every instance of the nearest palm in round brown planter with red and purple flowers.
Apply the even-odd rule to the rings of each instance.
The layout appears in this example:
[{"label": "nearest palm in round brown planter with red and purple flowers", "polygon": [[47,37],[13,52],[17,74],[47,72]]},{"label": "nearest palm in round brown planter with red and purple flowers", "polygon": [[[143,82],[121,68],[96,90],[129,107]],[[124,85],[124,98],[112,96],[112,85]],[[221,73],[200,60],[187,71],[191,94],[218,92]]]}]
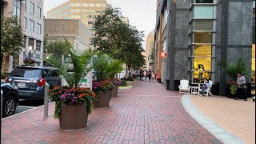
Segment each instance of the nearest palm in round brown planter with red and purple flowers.
[{"label": "nearest palm in round brown planter with red and purple flowers", "polygon": [[55,102],[54,118],[59,118],[60,128],[62,130],[79,130],[86,127],[88,114],[93,109],[92,101],[96,97],[96,94],[90,89],[79,88],[81,78],[94,68],[91,64],[94,52],[86,50],[82,54],[77,54],[70,42],[66,39],[65,41],[71,64],[62,63],[62,60],[55,55],[47,58],[46,62],[58,68],[69,86],[55,86],[53,90],[50,90],[50,100]]}]

